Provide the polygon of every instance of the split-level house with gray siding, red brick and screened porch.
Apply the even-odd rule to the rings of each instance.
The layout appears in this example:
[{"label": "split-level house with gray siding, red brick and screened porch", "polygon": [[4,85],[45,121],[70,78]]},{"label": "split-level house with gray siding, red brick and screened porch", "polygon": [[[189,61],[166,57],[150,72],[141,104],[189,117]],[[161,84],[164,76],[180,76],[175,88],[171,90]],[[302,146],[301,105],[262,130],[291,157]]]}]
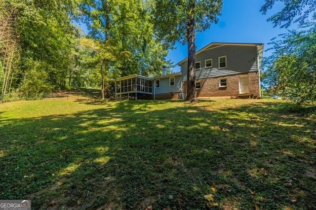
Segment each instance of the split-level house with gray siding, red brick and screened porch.
[{"label": "split-level house with gray siding, red brick and screened porch", "polygon": [[[212,42],[198,50],[195,64],[197,98],[261,98],[263,47],[261,43]],[[177,65],[181,71],[172,74],[163,70],[161,76],[154,78],[136,74],[119,78],[116,98],[184,99],[188,59]]]}]

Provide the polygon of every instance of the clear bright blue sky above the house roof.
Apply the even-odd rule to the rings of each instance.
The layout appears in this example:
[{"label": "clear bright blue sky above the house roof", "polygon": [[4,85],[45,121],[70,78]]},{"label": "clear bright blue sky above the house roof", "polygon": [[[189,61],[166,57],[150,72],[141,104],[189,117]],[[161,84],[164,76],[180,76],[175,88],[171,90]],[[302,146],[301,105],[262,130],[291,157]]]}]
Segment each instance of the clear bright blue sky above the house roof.
[{"label": "clear bright blue sky above the house roof", "polygon": [[[274,28],[272,22],[267,22],[267,19],[280,11],[283,4],[277,2],[271,11],[263,15],[260,8],[264,2],[265,0],[223,0],[222,15],[219,16],[218,23],[204,32],[197,33],[197,50],[211,42],[263,43],[265,49],[270,48],[270,40],[286,32],[286,29]],[[176,49],[169,51],[166,60],[177,64],[188,57],[188,47],[180,43],[175,47]],[[270,54],[271,52],[264,52],[264,56]],[[180,71],[180,68],[176,66],[173,71]]]}]

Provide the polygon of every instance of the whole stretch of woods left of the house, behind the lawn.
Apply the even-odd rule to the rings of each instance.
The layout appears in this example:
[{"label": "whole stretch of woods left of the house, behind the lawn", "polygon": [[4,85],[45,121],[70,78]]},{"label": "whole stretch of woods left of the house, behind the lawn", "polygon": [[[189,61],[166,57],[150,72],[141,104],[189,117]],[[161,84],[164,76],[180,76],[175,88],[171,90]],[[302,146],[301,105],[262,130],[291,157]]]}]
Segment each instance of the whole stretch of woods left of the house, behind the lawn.
[{"label": "whole stretch of woods left of the house, behind the lawn", "polygon": [[[143,0],[1,0],[0,5],[1,100],[76,87],[102,87],[105,98],[120,76],[156,75],[170,66]],[[74,21],[85,23],[89,34]]]}]

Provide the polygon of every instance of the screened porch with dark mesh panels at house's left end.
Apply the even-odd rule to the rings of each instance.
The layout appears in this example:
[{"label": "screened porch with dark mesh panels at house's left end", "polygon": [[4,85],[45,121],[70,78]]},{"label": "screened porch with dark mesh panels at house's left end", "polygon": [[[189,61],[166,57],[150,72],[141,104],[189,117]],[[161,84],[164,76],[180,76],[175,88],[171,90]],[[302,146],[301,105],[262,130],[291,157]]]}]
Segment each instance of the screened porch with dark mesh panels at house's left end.
[{"label": "screened porch with dark mesh panels at house's left end", "polygon": [[115,85],[116,99],[153,99],[153,79],[141,75],[118,78]]}]

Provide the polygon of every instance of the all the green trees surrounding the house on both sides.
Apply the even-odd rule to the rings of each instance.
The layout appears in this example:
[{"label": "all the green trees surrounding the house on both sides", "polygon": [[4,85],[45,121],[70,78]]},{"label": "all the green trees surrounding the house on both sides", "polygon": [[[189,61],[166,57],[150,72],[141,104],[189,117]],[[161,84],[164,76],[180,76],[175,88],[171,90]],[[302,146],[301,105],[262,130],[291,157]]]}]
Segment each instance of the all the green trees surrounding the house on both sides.
[{"label": "all the green trees surrounding the house on both sides", "polygon": [[[275,27],[299,23],[272,41],[263,83],[297,104],[316,101],[316,2],[266,0]],[[109,97],[120,76],[160,75],[168,49],[188,43],[187,101],[195,102],[195,37],[218,21],[222,0],[0,0],[0,100],[42,98],[56,89],[94,87]],[[308,21],[309,20],[309,21]],[[74,23],[84,23],[88,35]]]}]

